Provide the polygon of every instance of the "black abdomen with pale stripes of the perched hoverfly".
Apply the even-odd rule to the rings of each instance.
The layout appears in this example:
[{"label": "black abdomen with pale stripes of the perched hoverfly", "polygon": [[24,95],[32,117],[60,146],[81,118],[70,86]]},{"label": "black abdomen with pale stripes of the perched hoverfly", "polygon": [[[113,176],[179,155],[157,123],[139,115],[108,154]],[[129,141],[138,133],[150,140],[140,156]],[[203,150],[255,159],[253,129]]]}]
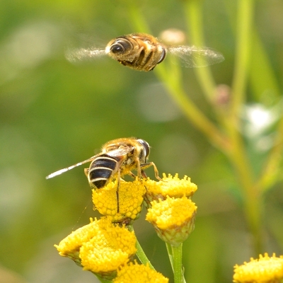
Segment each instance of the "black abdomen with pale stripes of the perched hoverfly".
[{"label": "black abdomen with pale stripes of the perched hoverfly", "polygon": [[104,187],[116,173],[119,157],[102,154],[96,157],[88,171],[88,182],[98,189]]}]

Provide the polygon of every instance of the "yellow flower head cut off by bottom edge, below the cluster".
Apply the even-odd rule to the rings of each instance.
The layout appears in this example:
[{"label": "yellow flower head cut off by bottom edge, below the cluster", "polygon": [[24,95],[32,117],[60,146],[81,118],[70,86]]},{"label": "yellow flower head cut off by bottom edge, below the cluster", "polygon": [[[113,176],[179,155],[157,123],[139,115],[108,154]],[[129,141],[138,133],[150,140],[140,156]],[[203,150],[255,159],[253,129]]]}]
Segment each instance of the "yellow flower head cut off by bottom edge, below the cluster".
[{"label": "yellow flower head cut off by bottom edge, below the cluster", "polygon": [[137,262],[130,262],[117,272],[113,283],[168,283],[168,278],[148,265],[138,265]]}]

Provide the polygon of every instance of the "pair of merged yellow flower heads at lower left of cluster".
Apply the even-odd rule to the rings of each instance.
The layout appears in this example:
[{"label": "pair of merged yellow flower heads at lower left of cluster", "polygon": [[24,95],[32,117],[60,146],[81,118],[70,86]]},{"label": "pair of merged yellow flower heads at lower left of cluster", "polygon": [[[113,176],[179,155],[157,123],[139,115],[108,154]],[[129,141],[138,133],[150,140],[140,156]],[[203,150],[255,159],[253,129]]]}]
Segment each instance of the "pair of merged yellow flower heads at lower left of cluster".
[{"label": "pair of merged yellow flower heads at lower left of cluster", "polygon": [[109,217],[95,219],[71,233],[56,247],[60,255],[69,258],[76,251],[84,270],[105,278],[115,275],[118,267],[125,265],[137,251],[134,233],[125,226],[112,224]]}]

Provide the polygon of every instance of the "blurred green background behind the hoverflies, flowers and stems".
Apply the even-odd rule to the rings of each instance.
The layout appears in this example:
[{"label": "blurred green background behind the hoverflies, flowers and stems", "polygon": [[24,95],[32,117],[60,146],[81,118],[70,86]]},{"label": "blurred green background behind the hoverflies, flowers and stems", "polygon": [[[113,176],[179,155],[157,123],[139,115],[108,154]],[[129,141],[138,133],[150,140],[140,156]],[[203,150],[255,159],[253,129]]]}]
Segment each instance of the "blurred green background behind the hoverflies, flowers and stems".
[{"label": "blurred green background behind the hoverflies, flowers and stems", "polygon": [[[216,83],[229,86],[236,2],[203,1],[205,44],[226,59],[212,67],[212,74]],[[154,35],[168,28],[187,33],[183,1],[137,3]],[[282,14],[282,1],[255,2],[254,25],[272,73],[263,70],[265,75],[256,80],[250,76],[248,103],[271,107],[282,96]],[[106,141],[120,137],[146,139],[150,161],[160,173],[189,175],[199,187],[195,231],[183,252],[188,282],[231,282],[233,265],[253,255],[233,169],[178,110],[155,71],[133,71],[108,57],[83,64],[64,57],[69,42],[104,47],[113,37],[136,32],[132,26],[126,1],[1,1],[1,283],[96,282],[91,272],[61,258],[53,247],[98,216],[92,210],[85,166],[51,180],[45,176],[89,158]],[[261,63],[262,58],[253,57],[253,71]],[[182,71],[188,96],[214,119],[194,70]],[[254,154],[252,140],[248,146]],[[146,173],[154,177],[153,170]],[[283,253],[282,195],[281,182],[265,196],[267,217],[262,219],[264,251],[277,255]],[[165,245],[144,214],[134,227],[153,265],[172,281]]]}]

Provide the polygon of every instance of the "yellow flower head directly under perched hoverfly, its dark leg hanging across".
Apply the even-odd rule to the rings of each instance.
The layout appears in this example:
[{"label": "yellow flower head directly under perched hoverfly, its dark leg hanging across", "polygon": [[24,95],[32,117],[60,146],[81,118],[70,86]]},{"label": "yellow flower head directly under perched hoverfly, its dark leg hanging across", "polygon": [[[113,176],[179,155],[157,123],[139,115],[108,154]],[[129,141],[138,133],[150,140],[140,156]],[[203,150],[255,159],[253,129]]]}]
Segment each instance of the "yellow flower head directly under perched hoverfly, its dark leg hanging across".
[{"label": "yellow flower head directly under perched hoverfly, its dark leg hanging across", "polygon": [[93,204],[100,214],[110,216],[112,222],[129,223],[138,218],[145,192],[146,188],[140,180],[136,179],[133,182],[121,180],[118,190],[119,202],[117,202],[116,180],[102,189],[93,190]]}]

